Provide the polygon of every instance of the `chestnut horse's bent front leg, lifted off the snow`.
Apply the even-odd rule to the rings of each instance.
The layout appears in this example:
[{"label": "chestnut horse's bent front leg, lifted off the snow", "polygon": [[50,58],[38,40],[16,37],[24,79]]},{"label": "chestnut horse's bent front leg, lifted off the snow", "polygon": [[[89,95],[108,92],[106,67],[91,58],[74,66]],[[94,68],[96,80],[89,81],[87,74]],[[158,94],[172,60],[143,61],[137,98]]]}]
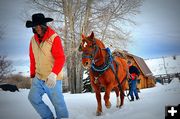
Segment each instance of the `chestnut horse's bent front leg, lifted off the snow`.
[{"label": "chestnut horse's bent front leg, lifted off the snow", "polygon": [[105,91],[105,95],[104,95],[104,100],[105,100],[105,106],[106,108],[110,108],[111,107],[111,102],[109,101],[109,97],[110,97],[110,92],[112,90],[112,85],[108,85],[106,87],[106,91]]}]

